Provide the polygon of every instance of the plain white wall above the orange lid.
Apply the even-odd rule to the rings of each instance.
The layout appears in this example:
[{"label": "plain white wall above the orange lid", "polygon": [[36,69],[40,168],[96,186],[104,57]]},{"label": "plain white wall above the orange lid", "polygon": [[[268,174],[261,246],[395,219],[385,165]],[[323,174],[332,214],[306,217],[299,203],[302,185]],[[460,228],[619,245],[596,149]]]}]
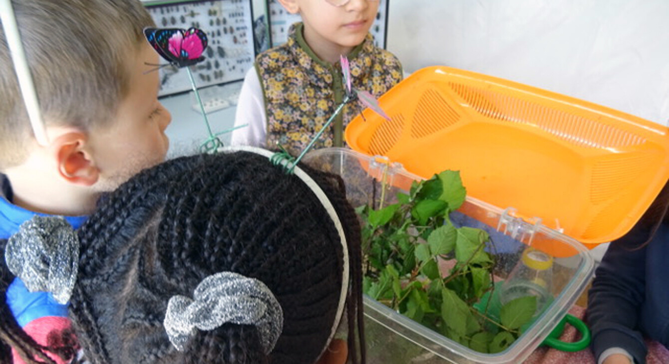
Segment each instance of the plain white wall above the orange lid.
[{"label": "plain white wall above the orange lid", "polygon": [[387,47],[669,125],[669,0],[390,0]]}]

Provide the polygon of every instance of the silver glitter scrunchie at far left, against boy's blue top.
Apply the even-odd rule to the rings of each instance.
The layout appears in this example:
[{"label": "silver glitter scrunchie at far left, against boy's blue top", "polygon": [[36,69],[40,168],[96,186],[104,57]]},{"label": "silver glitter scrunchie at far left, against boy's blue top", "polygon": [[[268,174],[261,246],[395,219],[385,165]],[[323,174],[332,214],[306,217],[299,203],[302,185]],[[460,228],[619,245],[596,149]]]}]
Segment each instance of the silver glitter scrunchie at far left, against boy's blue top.
[{"label": "silver glitter scrunchie at far left, against boy's blue top", "polygon": [[62,217],[33,216],[7,241],[5,261],[29,291],[51,292],[64,305],[77,279],[79,239]]}]

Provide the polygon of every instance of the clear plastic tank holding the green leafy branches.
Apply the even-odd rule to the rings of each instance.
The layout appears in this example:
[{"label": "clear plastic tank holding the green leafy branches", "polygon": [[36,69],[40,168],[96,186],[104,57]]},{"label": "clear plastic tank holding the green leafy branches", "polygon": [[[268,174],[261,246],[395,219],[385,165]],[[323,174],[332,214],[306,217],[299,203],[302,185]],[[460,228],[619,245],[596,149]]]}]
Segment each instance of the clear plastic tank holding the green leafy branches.
[{"label": "clear plastic tank holding the green leafy branches", "polygon": [[[347,148],[315,150],[304,156],[304,162],[339,174],[354,206],[377,206],[381,200],[393,202],[396,192],[407,190],[411,182],[421,179],[401,165],[387,162],[387,158],[370,157]],[[383,180],[388,188],[381,188]],[[502,210],[468,197],[452,220],[461,226],[483,228],[490,234],[495,248],[489,252],[498,261],[495,273],[502,279],[518,265],[528,246],[557,252],[551,254],[553,301],[527,331],[501,353],[478,353],[365,296],[368,363],[520,363],[541,345],[583,293],[594,262],[583,244],[540,223],[525,222],[513,212],[512,208]]]}]

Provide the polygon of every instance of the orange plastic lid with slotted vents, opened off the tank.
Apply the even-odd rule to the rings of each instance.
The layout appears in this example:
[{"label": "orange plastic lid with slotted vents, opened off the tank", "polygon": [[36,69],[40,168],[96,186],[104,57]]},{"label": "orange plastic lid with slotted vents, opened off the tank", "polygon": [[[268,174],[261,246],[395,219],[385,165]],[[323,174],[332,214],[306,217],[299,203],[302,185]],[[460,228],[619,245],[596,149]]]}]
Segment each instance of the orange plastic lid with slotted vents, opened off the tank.
[{"label": "orange plastic lid with slotted vents, opened off the tank", "polygon": [[460,170],[470,196],[593,248],[624,235],[669,178],[659,124],[450,67],[421,69],[346,129],[353,150],[423,178]]}]

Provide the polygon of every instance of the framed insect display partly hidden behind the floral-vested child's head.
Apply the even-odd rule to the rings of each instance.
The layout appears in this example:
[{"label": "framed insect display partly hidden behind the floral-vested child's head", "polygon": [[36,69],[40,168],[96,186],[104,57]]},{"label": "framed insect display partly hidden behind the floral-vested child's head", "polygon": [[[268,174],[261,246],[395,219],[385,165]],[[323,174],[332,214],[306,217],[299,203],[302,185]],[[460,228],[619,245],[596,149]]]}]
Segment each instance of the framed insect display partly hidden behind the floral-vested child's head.
[{"label": "framed insect display partly hidden behind the floral-vested child's head", "polygon": [[[388,27],[388,1],[379,0],[379,11],[369,33],[374,36],[377,47],[385,49]],[[267,19],[270,23],[270,47],[282,45],[288,40],[288,28],[292,23],[301,21],[299,14],[291,14],[276,0],[266,0]]]}]

